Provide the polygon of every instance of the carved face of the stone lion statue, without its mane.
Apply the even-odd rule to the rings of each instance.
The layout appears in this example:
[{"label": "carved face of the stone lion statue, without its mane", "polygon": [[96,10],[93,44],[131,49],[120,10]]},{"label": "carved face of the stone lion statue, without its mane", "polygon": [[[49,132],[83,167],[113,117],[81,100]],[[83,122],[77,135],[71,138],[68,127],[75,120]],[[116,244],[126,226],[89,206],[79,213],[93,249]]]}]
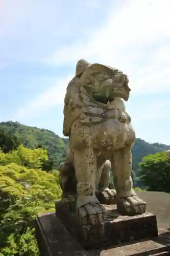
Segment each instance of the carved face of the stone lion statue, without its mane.
[{"label": "carved face of the stone lion statue, without its mane", "polygon": [[82,73],[79,82],[84,85],[94,100],[107,103],[115,97],[129,99],[127,75],[122,71],[98,63],[88,65]]}]

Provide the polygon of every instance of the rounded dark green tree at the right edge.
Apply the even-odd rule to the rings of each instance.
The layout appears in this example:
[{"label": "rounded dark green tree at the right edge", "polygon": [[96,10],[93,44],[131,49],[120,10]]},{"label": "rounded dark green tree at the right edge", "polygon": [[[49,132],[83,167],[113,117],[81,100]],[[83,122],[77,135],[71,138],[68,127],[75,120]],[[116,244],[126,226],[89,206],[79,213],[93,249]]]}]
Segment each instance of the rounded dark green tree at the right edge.
[{"label": "rounded dark green tree at the right edge", "polygon": [[141,179],[148,190],[170,192],[170,159],[166,153],[143,157]]}]

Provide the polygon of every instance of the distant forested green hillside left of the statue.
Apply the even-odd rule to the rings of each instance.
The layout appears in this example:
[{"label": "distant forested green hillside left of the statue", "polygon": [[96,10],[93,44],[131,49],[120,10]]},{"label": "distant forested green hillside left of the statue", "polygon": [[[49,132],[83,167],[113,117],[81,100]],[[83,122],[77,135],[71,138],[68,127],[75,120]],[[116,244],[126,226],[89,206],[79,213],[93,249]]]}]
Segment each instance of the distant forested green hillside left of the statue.
[{"label": "distant forested green hillside left of the statue", "polygon": [[[50,160],[53,160],[54,168],[58,169],[60,163],[65,160],[65,146],[68,144],[68,139],[63,139],[55,133],[30,127],[20,124],[18,122],[1,122],[0,129],[5,131],[9,136],[13,135],[20,140],[20,142],[27,148],[37,148],[41,146],[48,150]],[[45,162],[49,167],[43,166],[45,170],[50,170],[51,162]]]}]

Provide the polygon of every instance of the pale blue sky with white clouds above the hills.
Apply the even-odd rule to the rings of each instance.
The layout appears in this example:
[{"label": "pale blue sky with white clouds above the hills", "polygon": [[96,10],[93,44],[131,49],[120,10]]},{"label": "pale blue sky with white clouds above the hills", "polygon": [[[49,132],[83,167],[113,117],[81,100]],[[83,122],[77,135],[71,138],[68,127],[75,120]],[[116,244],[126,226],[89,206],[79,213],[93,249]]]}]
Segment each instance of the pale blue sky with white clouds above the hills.
[{"label": "pale blue sky with white clouds above the hills", "polygon": [[129,76],[136,135],[170,144],[169,0],[0,0],[0,121],[62,136],[63,100],[84,58]]}]

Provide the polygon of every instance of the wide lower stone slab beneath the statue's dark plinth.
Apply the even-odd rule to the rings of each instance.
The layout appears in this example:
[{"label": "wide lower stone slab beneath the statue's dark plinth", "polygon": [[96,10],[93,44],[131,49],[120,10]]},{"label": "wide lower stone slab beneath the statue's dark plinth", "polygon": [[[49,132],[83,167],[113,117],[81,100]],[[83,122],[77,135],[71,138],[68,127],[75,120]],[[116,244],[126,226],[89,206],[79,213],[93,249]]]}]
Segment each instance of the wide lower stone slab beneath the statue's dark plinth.
[{"label": "wide lower stone slab beneath the statue's dark plinth", "polygon": [[54,213],[38,215],[36,237],[40,256],[167,256],[170,232],[159,229],[159,236],[104,249],[85,250],[66,230]]}]

